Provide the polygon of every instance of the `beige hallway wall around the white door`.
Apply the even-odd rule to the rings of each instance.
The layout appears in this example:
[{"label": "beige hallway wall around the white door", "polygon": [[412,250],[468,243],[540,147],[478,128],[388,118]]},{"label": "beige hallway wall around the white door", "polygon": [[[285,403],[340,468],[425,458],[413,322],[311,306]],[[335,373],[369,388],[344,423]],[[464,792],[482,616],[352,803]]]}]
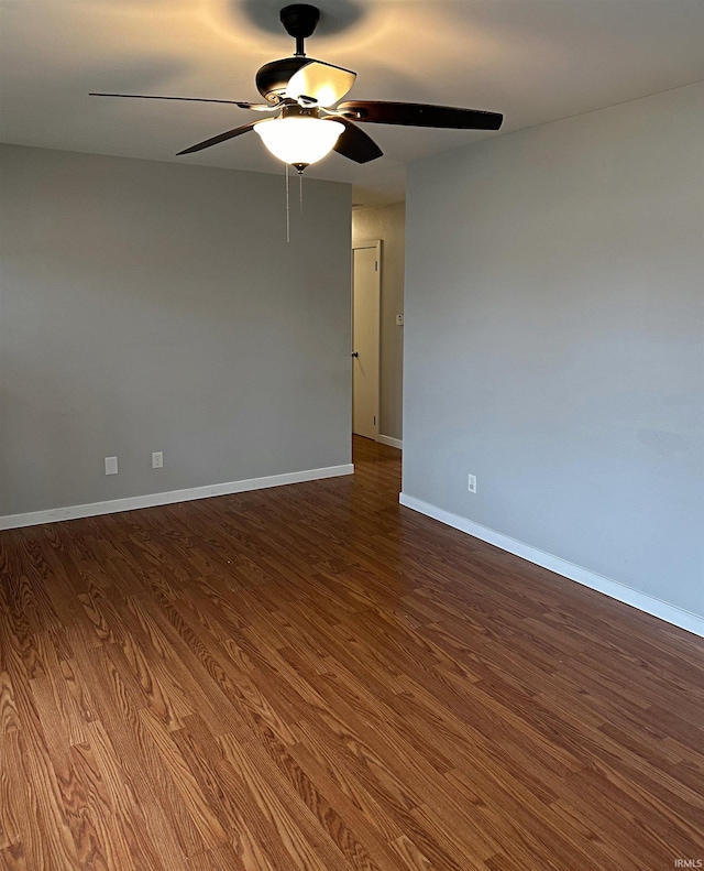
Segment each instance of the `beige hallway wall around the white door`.
[{"label": "beige hallway wall around the white door", "polygon": [[404,329],[396,315],[404,312],[406,204],[352,213],[352,242],[382,239],[382,360],[380,369],[380,433],[403,438]]}]

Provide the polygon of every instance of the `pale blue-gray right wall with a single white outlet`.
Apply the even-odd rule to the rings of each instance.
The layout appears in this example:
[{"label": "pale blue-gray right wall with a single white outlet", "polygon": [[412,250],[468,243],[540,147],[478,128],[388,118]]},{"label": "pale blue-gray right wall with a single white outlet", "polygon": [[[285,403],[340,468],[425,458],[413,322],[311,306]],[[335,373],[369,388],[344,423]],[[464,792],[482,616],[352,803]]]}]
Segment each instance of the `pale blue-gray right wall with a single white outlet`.
[{"label": "pale blue-gray right wall with a single white outlet", "polygon": [[696,614],[703,101],[411,165],[404,400],[405,493]]}]

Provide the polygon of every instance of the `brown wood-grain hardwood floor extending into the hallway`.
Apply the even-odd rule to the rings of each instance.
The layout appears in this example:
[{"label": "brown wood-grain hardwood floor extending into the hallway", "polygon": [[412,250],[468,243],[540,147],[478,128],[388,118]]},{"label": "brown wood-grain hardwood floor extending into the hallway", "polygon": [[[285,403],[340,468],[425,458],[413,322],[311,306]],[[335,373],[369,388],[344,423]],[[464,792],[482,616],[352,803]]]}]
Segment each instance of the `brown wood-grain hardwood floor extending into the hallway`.
[{"label": "brown wood-grain hardwood floor extending into the hallway", "polygon": [[3,869],[704,860],[701,640],[355,462],[2,534]]}]

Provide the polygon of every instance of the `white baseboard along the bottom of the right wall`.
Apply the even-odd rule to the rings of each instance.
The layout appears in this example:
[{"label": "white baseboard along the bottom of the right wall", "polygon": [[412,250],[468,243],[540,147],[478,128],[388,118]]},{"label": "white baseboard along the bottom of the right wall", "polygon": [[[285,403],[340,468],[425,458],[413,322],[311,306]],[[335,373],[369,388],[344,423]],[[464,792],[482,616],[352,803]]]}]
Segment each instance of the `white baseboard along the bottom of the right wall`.
[{"label": "white baseboard along the bottom of the right wall", "polygon": [[685,611],[682,608],[668,605],[645,592],[639,592],[632,589],[632,587],[619,584],[617,580],[605,578],[603,575],[597,575],[594,571],[582,568],[574,563],[569,563],[566,559],[562,559],[553,554],[539,551],[537,547],[531,547],[529,544],[524,544],[516,538],[510,538],[508,535],[503,535],[499,532],[490,530],[487,526],[482,526],[471,520],[461,518],[459,514],[443,511],[437,505],[424,502],[407,493],[400,493],[398,501],[402,505],[418,511],[420,514],[425,514],[433,520],[439,520],[448,526],[452,526],[455,530],[468,533],[468,535],[473,535],[475,538],[481,538],[483,542],[488,542],[496,547],[501,547],[502,551],[507,551],[509,554],[520,556],[529,563],[554,571],[557,575],[562,575],[562,577],[569,578],[570,580],[575,580],[578,584],[582,584],[593,590],[610,596],[612,599],[617,599],[619,602],[630,605],[632,608],[637,608],[652,617],[658,617],[660,620],[664,620],[680,629],[685,629],[688,632],[704,638],[704,618],[691,611]]}]

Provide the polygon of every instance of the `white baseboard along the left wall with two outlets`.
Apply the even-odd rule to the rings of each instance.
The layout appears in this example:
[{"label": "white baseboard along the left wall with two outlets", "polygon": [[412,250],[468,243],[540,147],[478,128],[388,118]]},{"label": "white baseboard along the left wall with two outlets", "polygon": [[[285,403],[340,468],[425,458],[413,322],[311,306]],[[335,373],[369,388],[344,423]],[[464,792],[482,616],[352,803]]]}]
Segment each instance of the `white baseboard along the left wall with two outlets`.
[{"label": "white baseboard along the left wall with two outlets", "polygon": [[165,493],[147,493],[146,496],[134,496],[128,499],[111,499],[107,502],[90,502],[85,505],[30,511],[26,514],[7,514],[0,518],[0,530],[36,526],[40,523],[56,523],[61,520],[95,518],[98,514],[114,514],[118,511],[133,511],[139,508],[170,505],[174,502],[189,502],[194,499],[208,499],[212,496],[228,496],[229,493],[243,493],[248,490],[263,490],[266,487],[317,481],[322,478],[336,478],[340,475],[352,475],[353,472],[354,466],[349,462],[344,466],[328,466],[322,469],[270,475],[266,478],[250,478],[244,481],[228,481],[227,483],[213,483],[206,487],[191,487],[187,490],[169,490]]}]

